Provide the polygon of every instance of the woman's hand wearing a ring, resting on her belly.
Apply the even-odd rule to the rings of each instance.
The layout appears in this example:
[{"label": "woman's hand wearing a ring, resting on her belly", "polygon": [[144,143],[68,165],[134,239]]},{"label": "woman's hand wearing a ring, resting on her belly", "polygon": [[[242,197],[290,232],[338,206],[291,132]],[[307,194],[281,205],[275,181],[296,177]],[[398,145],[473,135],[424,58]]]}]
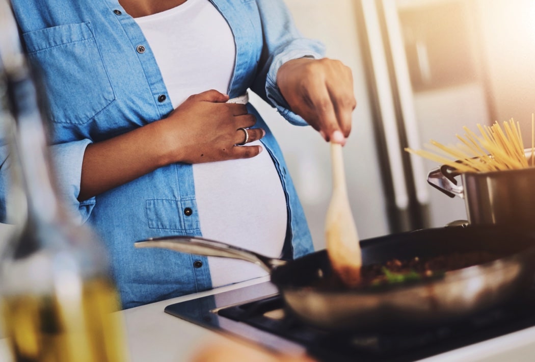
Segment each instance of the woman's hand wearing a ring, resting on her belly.
[{"label": "woman's hand wearing a ring, resting on her belly", "polygon": [[[226,103],[228,95],[207,90],[189,96],[171,114],[161,120],[165,127],[164,147],[169,150],[169,163],[202,163],[245,159],[262,152],[262,147],[238,146],[246,138],[240,128],[256,123],[244,104]],[[247,143],[262,138],[262,129],[247,130]]]}]

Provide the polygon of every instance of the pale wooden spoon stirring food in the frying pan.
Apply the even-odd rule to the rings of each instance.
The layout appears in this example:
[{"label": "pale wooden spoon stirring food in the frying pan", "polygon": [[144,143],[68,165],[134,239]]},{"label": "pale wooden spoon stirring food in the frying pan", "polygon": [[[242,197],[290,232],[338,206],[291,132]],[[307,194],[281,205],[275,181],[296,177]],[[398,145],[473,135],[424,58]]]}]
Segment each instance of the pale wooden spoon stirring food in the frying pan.
[{"label": "pale wooden spoon stirring food in the frying pan", "polygon": [[356,286],[361,277],[361,246],[347,198],[342,145],[331,142],[333,192],[325,220],[327,254],[334,273],[347,286]]}]

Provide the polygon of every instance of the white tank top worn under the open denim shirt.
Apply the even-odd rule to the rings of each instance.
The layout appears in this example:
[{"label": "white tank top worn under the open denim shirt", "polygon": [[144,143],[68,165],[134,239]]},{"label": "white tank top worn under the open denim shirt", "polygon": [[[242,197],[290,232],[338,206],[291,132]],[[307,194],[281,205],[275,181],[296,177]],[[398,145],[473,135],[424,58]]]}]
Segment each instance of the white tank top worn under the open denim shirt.
[{"label": "white tank top worn under the open denim shirt", "polygon": [[[209,0],[187,0],[135,20],[156,57],[174,108],[204,90],[228,92],[234,37]],[[195,195],[203,237],[278,258],[286,236],[286,197],[263,148],[252,159],[194,164]],[[209,265],[214,287],[268,274],[241,260],[209,258]]]}]

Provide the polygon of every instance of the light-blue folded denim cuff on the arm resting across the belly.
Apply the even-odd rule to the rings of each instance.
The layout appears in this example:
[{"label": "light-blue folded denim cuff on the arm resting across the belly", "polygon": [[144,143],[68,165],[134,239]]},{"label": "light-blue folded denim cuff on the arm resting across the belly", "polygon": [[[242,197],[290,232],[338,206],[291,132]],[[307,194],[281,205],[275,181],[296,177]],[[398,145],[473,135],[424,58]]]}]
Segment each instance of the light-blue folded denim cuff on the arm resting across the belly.
[{"label": "light-blue folded denim cuff on the arm resting across the belly", "polygon": [[91,143],[89,139],[82,139],[51,146],[60,197],[75,212],[75,215],[80,216],[81,222],[87,221],[95,206],[95,198],[83,202],[78,201],[83,154]]}]

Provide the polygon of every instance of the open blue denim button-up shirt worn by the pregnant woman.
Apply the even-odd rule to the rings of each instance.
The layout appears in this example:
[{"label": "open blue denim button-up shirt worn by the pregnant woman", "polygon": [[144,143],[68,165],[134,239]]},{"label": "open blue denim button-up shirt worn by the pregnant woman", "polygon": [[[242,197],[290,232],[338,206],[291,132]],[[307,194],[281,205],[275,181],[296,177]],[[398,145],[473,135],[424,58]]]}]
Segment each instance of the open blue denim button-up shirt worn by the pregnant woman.
[{"label": "open blue denim button-up shirt worn by the pregnant woman", "polygon": [[[282,0],[211,0],[234,34],[236,60],[228,94],[248,88],[289,122],[277,71],[289,59],[322,57],[323,46],[294,27]],[[83,153],[91,142],[131,131],[172,111],[155,58],[134,19],[115,0],[12,0],[30,62],[48,96],[52,150],[60,190],[109,249],[124,307],[211,288],[206,258],[162,249],[137,249],[136,240],[201,235],[192,165],[159,168],[132,182],[78,202]],[[312,251],[304,213],[281,150],[257,111],[262,142],[279,173],[288,205],[285,257]],[[185,213],[191,209],[193,213]],[[189,211],[189,210],[188,210]],[[201,267],[199,263],[201,261]]]}]

